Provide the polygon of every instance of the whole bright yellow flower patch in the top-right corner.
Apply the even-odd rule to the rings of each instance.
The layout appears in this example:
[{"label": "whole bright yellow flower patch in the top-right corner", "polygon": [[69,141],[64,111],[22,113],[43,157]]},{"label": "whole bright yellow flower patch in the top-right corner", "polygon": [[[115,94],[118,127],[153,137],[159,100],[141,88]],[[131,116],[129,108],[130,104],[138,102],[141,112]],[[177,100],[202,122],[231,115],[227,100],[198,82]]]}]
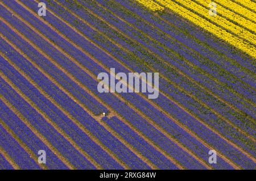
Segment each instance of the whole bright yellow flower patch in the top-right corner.
[{"label": "whole bright yellow flower patch in the top-right corner", "polygon": [[[164,7],[170,9],[171,11],[175,12],[176,14],[179,14],[180,16],[183,16],[183,18],[188,19],[192,23],[196,24],[196,26],[199,26],[203,28],[204,30],[207,30],[208,32],[212,33],[216,37],[225,40],[229,44],[233,45],[234,47],[242,50],[243,52],[249,54],[250,56],[256,58],[256,48],[254,45],[256,45],[256,35],[254,33],[251,33],[247,30],[245,30],[244,27],[248,28],[249,30],[255,31],[255,23],[251,22],[251,20],[255,20],[255,14],[252,11],[249,11],[241,6],[238,6],[236,3],[231,2],[229,0],[220,0],[217,1],[217,14],[221,14],[222,16],[232,19],[234,22],[238,23],[238,25],[230,22],[229,20],[222,18],[221,16],[209,16],[209,8],[205,8],[198,3],[200,2],[202,5],[207,6],[210,2],[209,0],[194,0],[188,1],[188,0],[176,0],[181,5],[188,7],[191,10],[185,9],[184,7],[180,6],[179,4],[175,3],[174,1],[170,0],[136,0],[137,2],[141,3],[142,5],[146,6],[148,9],[152,11],[160,10],[162,11]],[[239,1],[240,0],[236,0]],[[241,0],[242,1],[242,0]],[[157,2],[157,3],[156,3]],[[196,3],[197,2],[197,3]],[[226,10],[223,6],[227,6],[230,9],[234,9],[234,11],[239,12],[240,14],[245,15],[250,20],[246,20],[245,18],[241,17],[240,15],[230,11]],[[252,2],[248,5],[252,5]],[[236,8],[235,8],[236,7]],[[237,8],[240,7],[240,8]],[[255,8],[255,7],[254,7]],[[197,12],[200,15],[195,14]],[[208,18],[210,20],[204,19]],[[251,19],[254,18],[254,19]],[[218,26],[213,24],[212,22],[216,23]],[[221,26],[221,27],[220,27]],[[223,28],[222,28],[223,27]],[[226,30],[224,30],[224,28]],[[234,35],[233,35],[234,33]],[[246,41],[249,41],[250,43],[247,43]],[[252,45],[253,44],[253,45]]]}]

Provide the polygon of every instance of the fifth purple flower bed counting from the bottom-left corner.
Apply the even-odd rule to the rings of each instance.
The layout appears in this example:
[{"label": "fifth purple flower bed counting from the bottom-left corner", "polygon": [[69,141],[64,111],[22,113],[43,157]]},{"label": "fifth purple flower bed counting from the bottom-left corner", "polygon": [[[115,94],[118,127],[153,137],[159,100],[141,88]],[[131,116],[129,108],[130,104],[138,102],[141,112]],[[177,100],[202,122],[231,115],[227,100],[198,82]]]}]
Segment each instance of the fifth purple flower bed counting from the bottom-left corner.
[{"label": "fifth purple flower bed counting from the bottom-left corner", "polygon": [[[16,60],[22,60],[22,58],[16,58]],[[2,68],[4,68],[7,64],[2,64]],[[6,74],[12,70],[10,66],[5,69]],[[27,69],[29,71],[29,69]],[[33,72],[31,70],[31,72]],[[15,73],[15,70],[11,71],[11,73]],[[10,73],[9,73],[10,74]],[[60,128],[62,128],[69,136],[77,142],[81,146],[81,148],[85,149],[89,152],[89,154],[94,158],[97,159],[99,163],[102,163],[102,165],[110,165],[110,163],[114,162],[110,158],[108,154],[106,154],[98,145],[96,145],[88,136],[86,136],[81,129],[79,129],[75,124],[71,122],[63,113],[58,110],[49,100],[47,100],[43,95],[41,95],[38,90],[35,89],[30,83],[26,81],[26,79],[22,78],[21,75],[16,73],[16,77],[13,74],[11,76],[12,81],[15,83],[16,86],[18,86],[20,89],[23,90],[24,94],[27,94],[27,96],[30,97],[30,99],[37,105],[39,108],[41,108],[44,112],[47,113],[49,118],[55,121],[57,125],[59,125]],[[40,79],[39,74],[37,74],[38,78]],[[35,77],[32,76],[32,77]],[[50,84],[47,81],[44,81],[45,78],[42,78],[40,83],[42,85],[48,85]],[[51,90],[48,90],[48,92]],[[35,92],[35,93],[34,93]],[[63,99],[63,96],[59,99]],[[63,106],[63,104],[61,105]],[[82,112],[81,112],[82,113]],[[92,120],[91,120],[92,121]],[[94,121],[93,121],[94,122]],[[86,140],[86,141],[85,141]],[[105,158],[105,159],[103,159]],[[114,164],[114,163],[113,163]],[[118,167],[118,166],[115,166]]]}]

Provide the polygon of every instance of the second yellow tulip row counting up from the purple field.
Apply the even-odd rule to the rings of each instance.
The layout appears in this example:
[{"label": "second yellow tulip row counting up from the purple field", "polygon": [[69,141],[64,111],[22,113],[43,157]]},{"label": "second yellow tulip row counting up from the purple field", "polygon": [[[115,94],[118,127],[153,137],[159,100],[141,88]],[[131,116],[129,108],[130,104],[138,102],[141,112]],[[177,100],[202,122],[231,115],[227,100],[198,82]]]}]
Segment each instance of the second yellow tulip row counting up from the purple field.
[{"label": "second yellow tulip row counting up from the purple field", "polygon": [[[226,30],[229,30],[233,32],[238,37],[243,37],[250,43],[256,45],[256,35],[253,33],[245,30],[244,28],[237,26],[236,24],[230,22],[229,20],[222,18],[221,16],[209,16],[209,9],[198,5],[197,3],[191,1],[191,0],[175,0],[176,2],[179,2],[181,5],[188,7],[191,9],[192,12],[197,12],[202,17],[209,18],[212,22],[220,25],[223,28],[226,28]],[[171,2],[171,1],[168,1]],[[201,2],[204,2],[201,0]],[[208,4],[207,4],[208,5]],[[218,13],[218,11],[217,11]],[[203,19],[206,21],[205,19]]]}]

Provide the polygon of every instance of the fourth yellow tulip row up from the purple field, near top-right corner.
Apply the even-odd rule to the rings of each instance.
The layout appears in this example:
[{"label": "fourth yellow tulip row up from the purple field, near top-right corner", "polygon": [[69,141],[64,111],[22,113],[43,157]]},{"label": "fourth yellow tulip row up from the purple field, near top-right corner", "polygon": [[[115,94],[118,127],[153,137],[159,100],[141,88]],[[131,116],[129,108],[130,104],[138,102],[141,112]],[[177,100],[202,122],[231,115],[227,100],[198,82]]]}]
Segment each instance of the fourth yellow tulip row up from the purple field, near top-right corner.
[{"label": "fourth yellow tulip row up from the purple field, near top-right corner", "polygon": [[[245,0],[237,0],[236,2],[240,2],[241,4],[243,4]],[[214,0],[213,0],[214,2]],[[217,4],[220,4],[220,5],[223,5],[223,6],[226,6],[228,7],[230,10],[234,11],[234,12],[237,12],[238,14],[241,14],[243,16],[245,16],[246,18],[252,20],[255,22],[255,13],[246,9],[245,7],[242,7],[240,5],[238,5],[236,2],[233,2],[233,1],[230,1],[230,0],[218,0],[216,1]],[[254,6],[251,4],[253,2],[251,1],[246,1],[248,2],[248,6],[250,6],[250,9],[256,9],[256,4],[254,3]],[[251,3],[249,3],[251,2]]]}]

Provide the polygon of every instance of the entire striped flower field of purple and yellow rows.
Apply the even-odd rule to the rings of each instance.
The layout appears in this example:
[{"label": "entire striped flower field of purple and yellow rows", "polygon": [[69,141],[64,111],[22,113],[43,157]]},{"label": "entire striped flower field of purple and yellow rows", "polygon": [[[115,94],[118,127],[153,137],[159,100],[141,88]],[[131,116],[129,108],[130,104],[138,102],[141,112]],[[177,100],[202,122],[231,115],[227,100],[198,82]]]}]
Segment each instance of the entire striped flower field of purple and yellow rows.
[{"label": "entire striped flower field of purple and yellow rows", "polygon": [[[0,1],[0,169],[255,169],[256,3],[211,3]],[[158,98],[100,93],[110,68]]]}]

